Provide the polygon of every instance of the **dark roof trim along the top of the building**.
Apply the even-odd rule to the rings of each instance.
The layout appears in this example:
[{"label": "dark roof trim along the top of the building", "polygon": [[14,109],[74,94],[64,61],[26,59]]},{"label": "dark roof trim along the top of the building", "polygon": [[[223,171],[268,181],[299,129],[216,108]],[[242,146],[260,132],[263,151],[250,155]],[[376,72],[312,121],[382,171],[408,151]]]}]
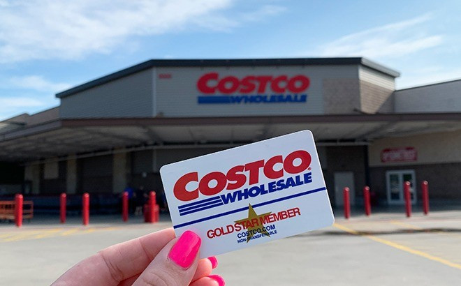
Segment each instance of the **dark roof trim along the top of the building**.
[{"label": "dark roof trim along the top of the building", "polygon": [[138,73],[149,68],[159,67],[212,67],[212,66],[332,66],[332,65],[362,65],[372,68],[391,77],[399,77],[400,73],[396,70],[381,66],[363,57],[344,57],[344,58],[294,58],[294,59],[151,59],[135,66],[119,70],[110,75],[99,77],[96,80],[80,84],[66,91],[56,93],[57,98],[65,98],[75,93],[92,89],[119,78]]}]

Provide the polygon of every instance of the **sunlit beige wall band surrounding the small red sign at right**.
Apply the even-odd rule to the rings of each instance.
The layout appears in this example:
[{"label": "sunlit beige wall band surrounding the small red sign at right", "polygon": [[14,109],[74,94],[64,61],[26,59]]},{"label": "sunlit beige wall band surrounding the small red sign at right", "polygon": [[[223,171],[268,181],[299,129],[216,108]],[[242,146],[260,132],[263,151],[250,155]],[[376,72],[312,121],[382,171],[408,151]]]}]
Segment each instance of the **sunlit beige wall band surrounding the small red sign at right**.
[{"label": "sunlit beige wall band surrounding the small red sign at right", "polygon": [[[414,147],[416,162],[381,163],[381,151],[387,148]],[[393,165],[420,165],[461,162],[461,130],[430,133],[409,137],[388,137],[373,142],[368,149],[370,167]]]}]

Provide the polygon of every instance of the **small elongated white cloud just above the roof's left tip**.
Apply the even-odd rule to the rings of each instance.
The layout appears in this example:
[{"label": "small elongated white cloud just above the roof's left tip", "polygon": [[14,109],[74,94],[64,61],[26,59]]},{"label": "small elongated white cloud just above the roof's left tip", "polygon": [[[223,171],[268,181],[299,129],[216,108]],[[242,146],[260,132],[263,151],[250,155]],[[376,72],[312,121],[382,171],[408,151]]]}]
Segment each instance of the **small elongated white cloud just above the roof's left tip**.
[{"label": "small elongated white cloud just above the roof's left tip", "polygon": [[71,87],[71,84],[63,82],[50,82],[39,75],[27,75],[24,77],[11,77],[9,86],[18,89],[31,89],[35,91],[45,91],[47,93],[57,93]]}]

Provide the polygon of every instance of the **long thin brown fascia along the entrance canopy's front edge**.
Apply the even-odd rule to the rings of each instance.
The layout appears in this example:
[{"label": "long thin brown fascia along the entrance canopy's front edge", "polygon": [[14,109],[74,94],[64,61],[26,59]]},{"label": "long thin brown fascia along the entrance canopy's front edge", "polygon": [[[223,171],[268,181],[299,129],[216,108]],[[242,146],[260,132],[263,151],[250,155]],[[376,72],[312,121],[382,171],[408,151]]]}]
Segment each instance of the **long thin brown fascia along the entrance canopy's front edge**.
[{"label": "long thin brown fascia along the entrance canopy's front edge", "polygon": [[197,126],[229,124],[270,123],[344,123],[344,122],[399,122],[399,121],[461,121],[460,112],[412,113],[412,114],[335,114],[300,116],[229,116],[229,117],[155,117],[155,118],[99,118],[56,119],[35,126],[12,130],[0,134],[0,142],[17,137],[36,135],[59,128],[92,126]]}]

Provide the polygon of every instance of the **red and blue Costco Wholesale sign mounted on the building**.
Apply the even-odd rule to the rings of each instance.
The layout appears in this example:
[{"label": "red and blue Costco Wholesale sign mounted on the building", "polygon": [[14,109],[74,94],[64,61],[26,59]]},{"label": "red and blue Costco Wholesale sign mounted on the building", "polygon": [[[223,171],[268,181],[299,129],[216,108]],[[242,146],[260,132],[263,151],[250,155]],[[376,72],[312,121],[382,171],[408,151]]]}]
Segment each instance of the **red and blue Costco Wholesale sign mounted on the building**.
[{"label": "red and blue Costco Wholesale sign mounted on the building", "polygon": [[197,81],[198,104],[306,103],[309,85],[305,75],[205,73]]}]

